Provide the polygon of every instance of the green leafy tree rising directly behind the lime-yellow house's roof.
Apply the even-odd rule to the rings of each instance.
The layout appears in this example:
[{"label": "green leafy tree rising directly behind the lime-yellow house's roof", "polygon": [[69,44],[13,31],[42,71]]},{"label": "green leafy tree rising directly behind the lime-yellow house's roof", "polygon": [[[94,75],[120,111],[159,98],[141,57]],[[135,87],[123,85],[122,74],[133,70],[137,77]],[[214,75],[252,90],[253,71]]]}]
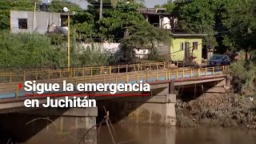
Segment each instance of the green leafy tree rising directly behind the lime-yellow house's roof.
[{"label": "green leafy tree rising directly behind the lime-yellow house's roof", "polygon": [[[174,13],[182,29],[189,33],[207,34],[204,45],[213,42],[218,46],[216,38],[223,35],[225,27],[222,26],[222,15],[226,12],[226,4],[230,0],[194,0],[192,2],[178,3]],[[216,37],[217,36],[217,37]]]}]

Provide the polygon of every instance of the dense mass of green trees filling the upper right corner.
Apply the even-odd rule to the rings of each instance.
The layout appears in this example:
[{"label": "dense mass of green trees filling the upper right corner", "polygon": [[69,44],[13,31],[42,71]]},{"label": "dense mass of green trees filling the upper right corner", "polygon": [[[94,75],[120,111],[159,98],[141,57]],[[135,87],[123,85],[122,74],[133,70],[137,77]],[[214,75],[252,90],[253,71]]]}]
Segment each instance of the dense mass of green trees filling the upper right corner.
[{"label": "dense mass of green trees filling the upper right corner", "polygon": [[217,52],[225,53],[255,50],[255,4],[254,0],[180,0],[176,5],[170,2],[162,7],[171,7],[179,28],[208,34],[203,45],[213,45]]}]

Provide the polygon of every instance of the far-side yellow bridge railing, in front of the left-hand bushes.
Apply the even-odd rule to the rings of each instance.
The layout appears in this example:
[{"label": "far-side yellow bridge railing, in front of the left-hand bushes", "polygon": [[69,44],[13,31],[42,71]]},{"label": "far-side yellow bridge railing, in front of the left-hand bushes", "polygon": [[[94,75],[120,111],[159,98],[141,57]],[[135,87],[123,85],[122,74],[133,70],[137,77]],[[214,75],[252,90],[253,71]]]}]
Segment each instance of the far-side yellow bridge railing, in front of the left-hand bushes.
[{"label": "far-side yellow bridge railing, in front of the left-hand bushes", "polygon": [[61,70],[34,70],[24,71],[22,74],[0,73],[0,83],[22,82],[26,80],[50,80],[55,78],[75,78],[85,76],[95,76],[104,74],[119,74],[127,72],[136,72],[142,70],[163,70],[166,68],[165,62],[134,64],[134,65],[118,65],[118,66],[97,66],[70,68]]}]

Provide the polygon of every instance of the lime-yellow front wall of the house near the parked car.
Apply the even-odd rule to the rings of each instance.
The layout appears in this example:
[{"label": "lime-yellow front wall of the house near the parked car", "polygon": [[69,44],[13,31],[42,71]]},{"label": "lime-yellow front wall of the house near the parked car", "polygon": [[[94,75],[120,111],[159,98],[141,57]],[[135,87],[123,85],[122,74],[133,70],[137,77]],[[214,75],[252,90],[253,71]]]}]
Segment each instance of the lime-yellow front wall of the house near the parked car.
[{"label": "lime-yellow front wall of the house near the parked car", "polygon": [[[185,42],[190,42],[190,54],[192,54],[193,42],[198,42],[198,50],[194,50],[193,54],[196,56],[198,63],[202,62],[202,38],[173,38],[170,46],[170,58],[173,61],[183,61],[185,56]],[[181,46],[183,43],[183,50]]]}]

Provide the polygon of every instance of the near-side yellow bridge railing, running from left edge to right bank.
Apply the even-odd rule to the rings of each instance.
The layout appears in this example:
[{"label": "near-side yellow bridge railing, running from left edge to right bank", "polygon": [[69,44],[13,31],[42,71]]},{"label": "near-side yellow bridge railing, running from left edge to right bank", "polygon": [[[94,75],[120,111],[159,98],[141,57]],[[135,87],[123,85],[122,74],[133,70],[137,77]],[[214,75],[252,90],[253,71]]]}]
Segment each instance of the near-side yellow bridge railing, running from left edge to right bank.
[{"label": "near-side yellow bridge railing, running from left edge to right bank", "polygon": [[[161,70],[153,71],[144,74],[123,74],[123,75],[102,75],[98,77],[86,76],[86,77],[73,77],[66,78],[66,82],[73,83],[74,86],[77,86],[78,83],[135,83],[135,82],[159,82],[166,81],[170,79],[180,79],[180,78],[200,78],[210,75],[226,74],[229,72],[229,66],[218,66],[218,67],[208,67],[202,69],[191,69],[191,70]],[[59,83],[62,86],[63,79],[54,79],[51,80],[51,83]],[[49,82],[48,80],[43,80],[40,82]],[[0,86],[0,94],[14,94],[13,98],[18,98],[24,96],[26,92],[24,90],[19,90],[17,85],[14,84],[5,84]],[[1,96],[5,98],[5,96]],[[10,97],[8,97],[10,98]]]}]

